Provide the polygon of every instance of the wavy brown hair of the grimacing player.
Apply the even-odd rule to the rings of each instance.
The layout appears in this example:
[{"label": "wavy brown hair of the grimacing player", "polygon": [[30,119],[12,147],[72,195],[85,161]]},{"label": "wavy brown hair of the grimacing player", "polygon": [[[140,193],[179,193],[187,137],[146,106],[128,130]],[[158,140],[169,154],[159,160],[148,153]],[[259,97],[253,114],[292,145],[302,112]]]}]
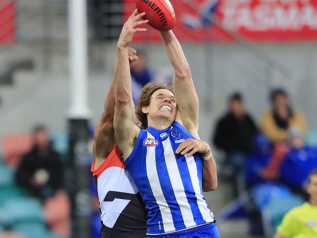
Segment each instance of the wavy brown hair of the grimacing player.
[{"label": "wavy brown hair of the grimacing player", "polygon": [[147,124],[147,116],[145,113],[142,112],[142,106],[150,105],[151,96],[158,89],[167,89],[167,90],[170,90],[174,94],[172,87],[166,84],[155,85],[154,83],[149,82],[142,88],[142,92],[141,92],[139,102],[136,108],[136,115],[137,115],[137,118],[141,121],[141,129],[143,130],[148,127],[148,124]]}]

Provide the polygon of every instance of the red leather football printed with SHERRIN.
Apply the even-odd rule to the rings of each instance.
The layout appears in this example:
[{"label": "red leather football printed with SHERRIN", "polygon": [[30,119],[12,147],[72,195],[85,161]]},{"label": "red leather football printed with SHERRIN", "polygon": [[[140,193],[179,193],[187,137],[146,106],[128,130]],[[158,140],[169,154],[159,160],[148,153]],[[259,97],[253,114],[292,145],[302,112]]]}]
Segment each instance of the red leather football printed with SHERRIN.
[{"label": "red leather football printed with SHERRIN", "polygon": [[169,31],[175,26],[175,12],[169,0],[134,0],[139,13],[145,12],[144,20],[159,31]]}]

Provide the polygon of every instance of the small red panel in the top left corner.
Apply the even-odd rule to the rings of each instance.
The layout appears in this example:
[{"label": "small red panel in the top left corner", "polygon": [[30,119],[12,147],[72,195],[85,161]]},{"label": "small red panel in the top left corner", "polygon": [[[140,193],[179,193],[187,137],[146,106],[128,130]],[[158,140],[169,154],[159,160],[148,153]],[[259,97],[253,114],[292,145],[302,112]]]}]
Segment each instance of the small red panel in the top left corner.
[{"label": "small red panel in the top left corner", "polygon": [[15,3],[0,0],[0,44],[15,42]]}]

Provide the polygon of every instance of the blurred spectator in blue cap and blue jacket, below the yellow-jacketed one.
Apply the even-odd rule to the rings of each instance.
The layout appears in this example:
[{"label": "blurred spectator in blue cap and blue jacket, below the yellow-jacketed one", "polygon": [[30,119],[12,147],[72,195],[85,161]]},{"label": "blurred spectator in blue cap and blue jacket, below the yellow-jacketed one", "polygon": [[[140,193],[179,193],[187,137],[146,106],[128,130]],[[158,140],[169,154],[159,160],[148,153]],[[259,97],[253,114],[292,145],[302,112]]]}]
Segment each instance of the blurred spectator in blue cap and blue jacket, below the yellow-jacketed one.
[{"label": "blurred spectator in blue cap and blue jacket, below the yellow-jacketed one", "polygon": [[258,134],[255,138],[254,150],[246,162],[246,185],[251,188],[267,180],[263,177],[263,170],[271,159],[272,145],[267,137]]}]

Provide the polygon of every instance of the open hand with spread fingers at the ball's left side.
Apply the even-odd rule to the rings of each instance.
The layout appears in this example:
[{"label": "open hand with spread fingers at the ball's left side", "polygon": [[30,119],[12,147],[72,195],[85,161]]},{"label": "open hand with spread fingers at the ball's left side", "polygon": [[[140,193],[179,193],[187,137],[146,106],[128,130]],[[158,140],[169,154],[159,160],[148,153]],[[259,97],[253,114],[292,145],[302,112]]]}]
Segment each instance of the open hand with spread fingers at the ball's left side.
[{"label": "open hand with spread fingers at the ball's left side", "polygon": [[138,9],[134,10],[132,15],[123,24],[121,34],[118,40],[118,47],[128,47],[133,40],[136,32],[146,31],[146,28],[135,28],[136,26],[147,23],[149,20],[139,20],[145,15],[145,12],[138,14]]}]

